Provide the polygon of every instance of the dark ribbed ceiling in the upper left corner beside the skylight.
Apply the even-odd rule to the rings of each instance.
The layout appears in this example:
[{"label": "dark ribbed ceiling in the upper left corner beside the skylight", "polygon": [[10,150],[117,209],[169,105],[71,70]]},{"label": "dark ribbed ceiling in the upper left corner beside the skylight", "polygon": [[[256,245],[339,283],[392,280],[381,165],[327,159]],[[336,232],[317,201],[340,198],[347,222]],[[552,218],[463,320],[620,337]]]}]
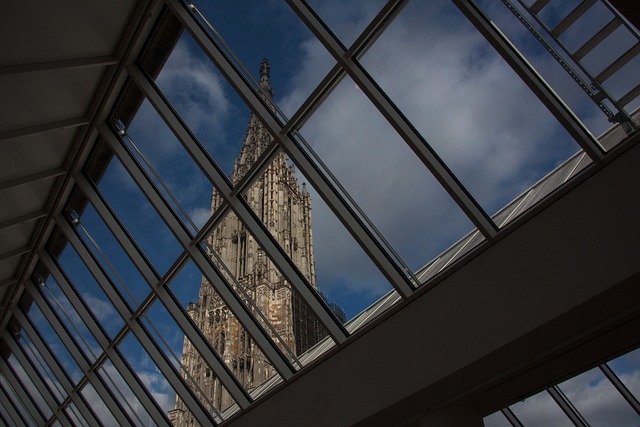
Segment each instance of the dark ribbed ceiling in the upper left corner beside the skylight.
[{"label": "dark ribbed ceiling in the upper left corner beside the skylight", "polygon": [[11,2],[0,16],[0,318],[108,108],[147,2]]}]

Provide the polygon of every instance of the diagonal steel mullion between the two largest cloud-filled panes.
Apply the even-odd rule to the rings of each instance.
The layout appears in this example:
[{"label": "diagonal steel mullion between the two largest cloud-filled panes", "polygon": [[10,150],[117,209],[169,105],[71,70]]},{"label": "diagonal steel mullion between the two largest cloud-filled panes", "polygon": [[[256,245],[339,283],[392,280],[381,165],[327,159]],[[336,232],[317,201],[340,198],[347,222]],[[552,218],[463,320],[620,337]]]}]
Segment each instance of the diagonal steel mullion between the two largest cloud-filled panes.
[{"label": "diagonal steel mullion between the two largest cloud-filled panes", "polygon": [[404,117],[384,91],[353,59],[352,55],[349,54],[342,43],[325,27],[324,23],[303,0],[287,0],[287,2],[329,53],[331,53],[346,70],[349,77],[351,77],[360,90],[362,90],[367,98],[376,106],[389,124],[398,132],[422,163],[431,171],[438,182],[440,182],[440,185],[442,185],[455,200],[478,230],[480,230],[485,238],[492,240],[498,231],[497,226],[460,183],[458,178],[449,170],[448,166],[429,146],[422,135],[420,135],[409,120]]}]

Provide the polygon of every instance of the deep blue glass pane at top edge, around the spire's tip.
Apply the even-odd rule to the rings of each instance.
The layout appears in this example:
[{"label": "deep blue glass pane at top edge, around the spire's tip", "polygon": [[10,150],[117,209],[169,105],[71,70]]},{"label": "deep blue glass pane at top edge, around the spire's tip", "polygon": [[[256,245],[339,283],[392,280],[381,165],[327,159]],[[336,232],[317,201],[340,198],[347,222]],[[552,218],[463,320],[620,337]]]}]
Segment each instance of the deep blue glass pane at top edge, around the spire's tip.
[{"label": "deep blue glass pane at top edge, around the spire's tip", "polygon": [[[256,4],[242,0],[194,4],[213,26],[214,38],[226,44],[228,51],[233,51],[232,56],[237,55],[235,63],[250,81],[262,58],[269,59],[278,70],[273,75],[273,87],[280,100],[277,103],[287,116],[293,114],[335,63],[285,3]],[[244,117],[242,120],[246,120]]]}]

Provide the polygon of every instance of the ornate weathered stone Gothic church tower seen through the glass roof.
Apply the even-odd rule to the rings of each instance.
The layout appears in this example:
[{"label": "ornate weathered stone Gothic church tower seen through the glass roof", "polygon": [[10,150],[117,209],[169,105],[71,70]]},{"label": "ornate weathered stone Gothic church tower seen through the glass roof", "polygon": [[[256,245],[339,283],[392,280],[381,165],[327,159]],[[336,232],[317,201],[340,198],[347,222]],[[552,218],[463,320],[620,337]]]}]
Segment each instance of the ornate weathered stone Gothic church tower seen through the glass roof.
[{"label": "ornate weathered stone Gothic church tower seen through the glass roof", "polygon": [[[260,67],[260,86],[271,101],[273,91],[269,71],[269,63],[264,59]],[[231,176],[234,184],[272,140],[264,125],[252,114],[240,155],[234,163]],[[249,187],[245,199],[309,283],[317,288],[311,198],[305,184],[298,183],[294,167],[283,152]],[[220,195],[214,189],[211,212],[220,204]],[[218,223],[207,243],[294,354],[303,353],[324,336],[319,322],[307,312],[306,305],[232,212]],[[214,262],[219,265],[215,259]],[[202,280],[198,302],[189,303],[187,311],[247,390],[276,373],[206,279]],[[182,365],[183,377],[192,387],[197,385],[217,410],[224,410],[233,403],[187,337],[184,338]],[[176,426],[196,425],[179,398],[169,412],[169,418]]]}]

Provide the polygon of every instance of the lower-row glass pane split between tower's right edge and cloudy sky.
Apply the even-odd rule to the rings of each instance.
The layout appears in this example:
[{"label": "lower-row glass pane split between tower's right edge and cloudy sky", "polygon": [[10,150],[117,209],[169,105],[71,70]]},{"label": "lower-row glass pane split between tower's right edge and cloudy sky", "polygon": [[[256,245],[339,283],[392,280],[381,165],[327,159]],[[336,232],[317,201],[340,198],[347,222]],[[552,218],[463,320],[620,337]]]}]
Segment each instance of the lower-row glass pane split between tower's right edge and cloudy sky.
[{"label": "lower-row glass pane split between tower's right edge and cloudy sky", "polygon": [[[250,145],[245,148],[243,152],[257,150]],[[282,151],[248,187],[244,197],[342,323],[354,319],[393,290],[315,188],[306,182]],[[234,224],[227,225],[227,233],[244,232],[239,222]],[[252,256],[247,250],[245,258]],[[256,266],[249,265],[243,270],[245,274],[252,274],[252,268]]]}]

